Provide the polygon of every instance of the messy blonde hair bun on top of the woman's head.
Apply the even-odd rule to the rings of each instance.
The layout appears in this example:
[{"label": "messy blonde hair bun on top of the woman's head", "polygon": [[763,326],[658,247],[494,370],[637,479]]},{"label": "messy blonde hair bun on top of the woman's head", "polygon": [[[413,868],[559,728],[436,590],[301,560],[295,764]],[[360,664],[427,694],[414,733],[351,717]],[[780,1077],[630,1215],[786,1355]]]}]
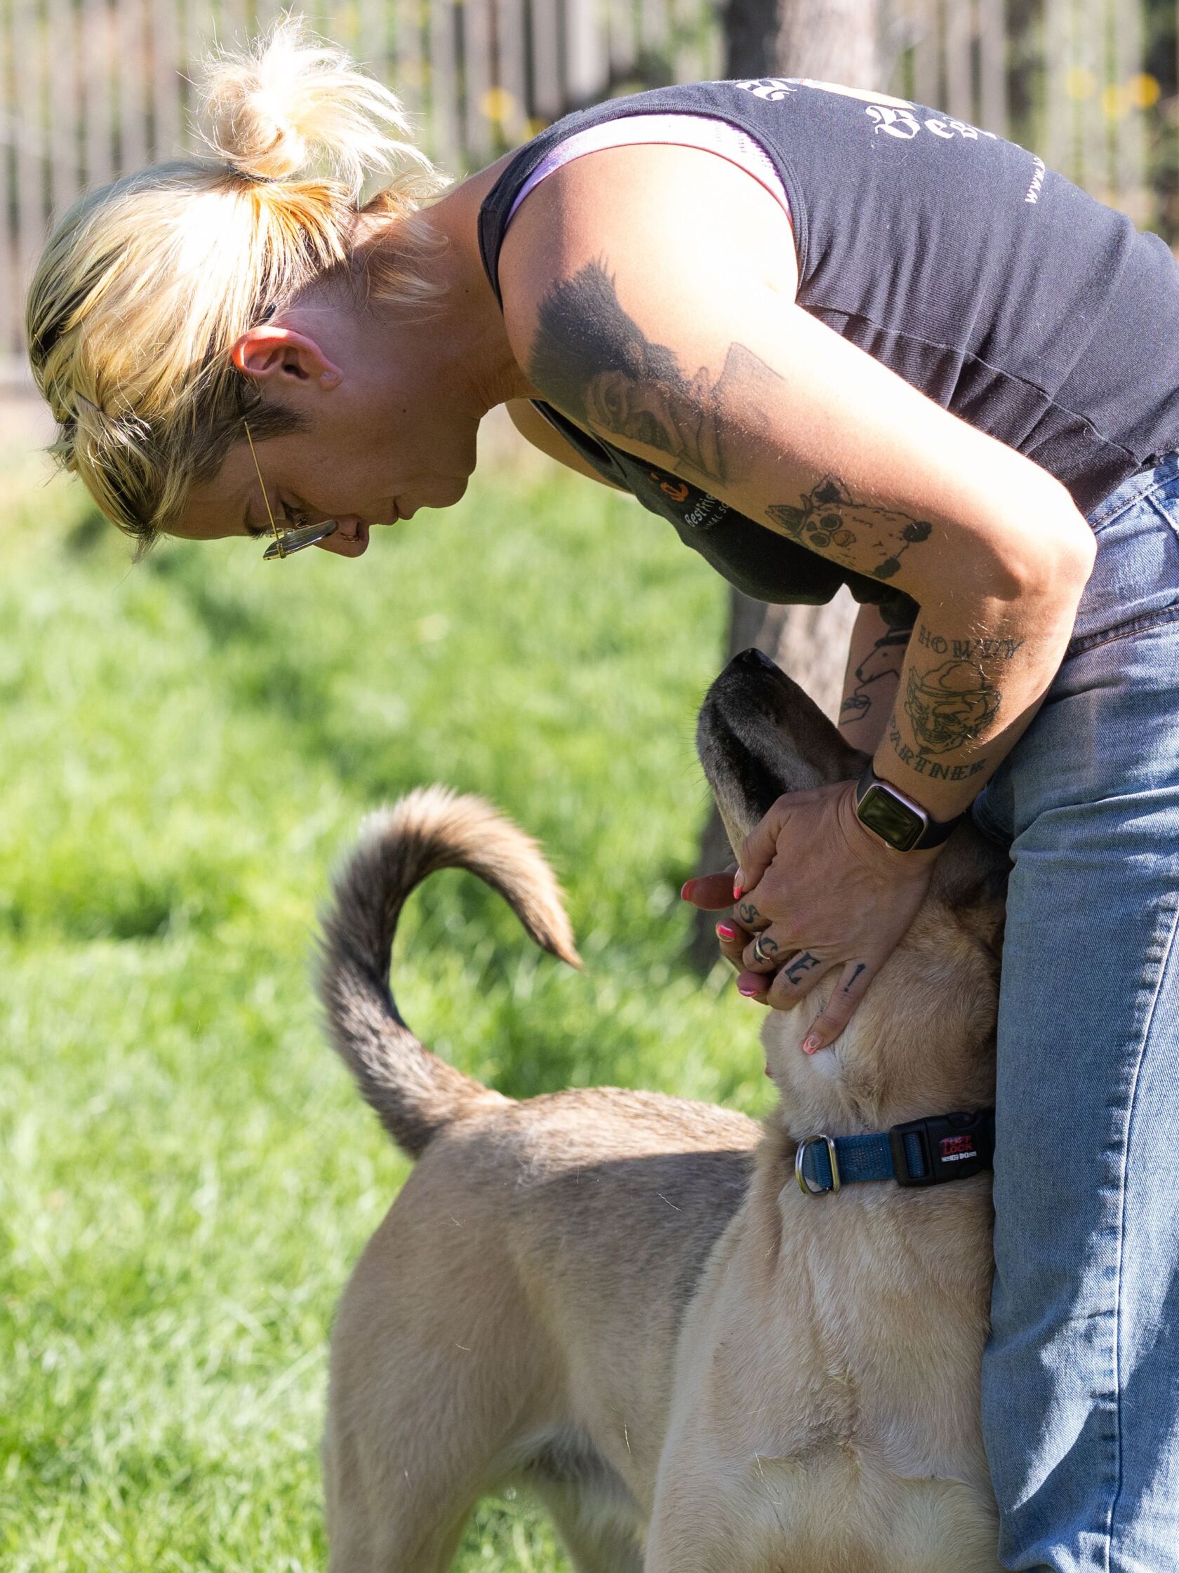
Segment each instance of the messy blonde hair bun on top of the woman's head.
[{"label": "messy blonde hair bun on top of the woman's head", "polygon": [[398,160],[428,168],[398,98],[296,16],[246,53],[209,60],[201,118],[208,145],[253,179],[327,173],[359,197],[365,176]]}]

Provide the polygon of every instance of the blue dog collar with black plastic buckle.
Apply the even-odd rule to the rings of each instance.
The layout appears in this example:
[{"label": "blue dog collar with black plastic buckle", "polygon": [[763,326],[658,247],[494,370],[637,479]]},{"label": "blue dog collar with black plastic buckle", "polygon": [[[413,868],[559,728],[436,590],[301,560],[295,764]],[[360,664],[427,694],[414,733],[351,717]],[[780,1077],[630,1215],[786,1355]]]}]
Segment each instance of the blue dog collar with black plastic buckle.
[{"label": "blue dog collar with black plastic buckle", "polygon": [[870,1136],[808,1136],[798,1144],[795,1177],[803,1195],[828,1195],[845,1184],[896,1180],[900,1186],[968,1180],[992,1167],[995,1111],[930,1114]]}]

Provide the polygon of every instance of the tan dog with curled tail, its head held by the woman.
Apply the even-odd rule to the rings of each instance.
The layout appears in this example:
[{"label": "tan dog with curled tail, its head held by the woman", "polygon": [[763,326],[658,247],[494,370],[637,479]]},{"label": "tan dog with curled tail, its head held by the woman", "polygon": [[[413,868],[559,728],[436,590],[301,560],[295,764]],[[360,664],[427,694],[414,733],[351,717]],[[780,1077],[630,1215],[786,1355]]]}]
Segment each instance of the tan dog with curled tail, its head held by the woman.
[{"label": "tan dog with curled tail, its head held by the woman", "polygon": [[[700,753],[735,845],[779,793],[859,764],[756,654],[713,684]],[[995,1573],[990,1177],[806,1197],[795,1153],[990,1104],[1006,862],[957,832],[831,1049],[800,1052],[822,988],[767,1016],[765,1129],[611,1089],[512,1103],[428,1054],[386,977],[405,898],[444,867],[576,963],[538,849],[477,799],[412,794],[337,882],[334,1043],[420,1161],[335,1326],[332,1573],[442,1573],[505,1482],[579,1573]]]}]

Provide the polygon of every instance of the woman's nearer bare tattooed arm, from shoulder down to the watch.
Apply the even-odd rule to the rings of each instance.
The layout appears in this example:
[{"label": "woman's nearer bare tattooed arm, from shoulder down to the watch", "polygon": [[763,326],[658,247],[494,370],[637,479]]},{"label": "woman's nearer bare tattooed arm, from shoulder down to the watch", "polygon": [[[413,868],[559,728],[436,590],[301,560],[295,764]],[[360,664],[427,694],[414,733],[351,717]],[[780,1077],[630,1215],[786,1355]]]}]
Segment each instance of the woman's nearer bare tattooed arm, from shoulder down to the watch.
[{"label": "woman's nearer bare tattooed arm, from shoulder down to the watch", "polygon": [[1092,532],[1045,470],[795,305],[789,227],[770,245],[765,209],[741,222],[752,184],[694,149],[571,162],[508,233],[508,335],[586,429],[918,602],[875,768],[949,820],[1059,665]]}]

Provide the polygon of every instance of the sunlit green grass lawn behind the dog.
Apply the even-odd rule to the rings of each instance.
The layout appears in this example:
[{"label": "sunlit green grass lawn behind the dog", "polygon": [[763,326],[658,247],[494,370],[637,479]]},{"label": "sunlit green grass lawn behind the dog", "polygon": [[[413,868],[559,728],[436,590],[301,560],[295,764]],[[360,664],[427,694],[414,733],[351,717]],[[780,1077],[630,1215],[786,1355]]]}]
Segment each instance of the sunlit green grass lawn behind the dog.
[{"label": "sunlit green grass lawn behind the dog", "polygon": [[[763,1107],[760,1013],[678,961],[724,590],[548,470],[362,563],[135,569],[30,473],[0,536],[0,1567],[320,1568],[332,1310],[406,1173],[316,1029],[327,870],[411,786],[485,793],[545,842],[589,971],[441,876],[394,969],[422,1037],[519,1096]],[[497,1499],[456,1567],[567,1564]]]}]

